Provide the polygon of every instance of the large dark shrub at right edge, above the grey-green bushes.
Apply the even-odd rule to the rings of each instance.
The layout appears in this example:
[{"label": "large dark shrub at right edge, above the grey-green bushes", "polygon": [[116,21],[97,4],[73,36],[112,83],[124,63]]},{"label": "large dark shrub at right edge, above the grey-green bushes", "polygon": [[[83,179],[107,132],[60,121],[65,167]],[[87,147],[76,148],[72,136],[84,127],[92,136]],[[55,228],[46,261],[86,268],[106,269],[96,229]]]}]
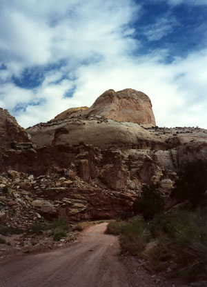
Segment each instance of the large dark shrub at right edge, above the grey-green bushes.
[{"label": "large dark shrub at right edge, above the grey-green bushes", "polygon": [[206,175],[207,161],[199,160],[188,163],[179,173],[179,179],[172,190],[172,197],[179,201],[188,199],[193,208],[206,205]]}]

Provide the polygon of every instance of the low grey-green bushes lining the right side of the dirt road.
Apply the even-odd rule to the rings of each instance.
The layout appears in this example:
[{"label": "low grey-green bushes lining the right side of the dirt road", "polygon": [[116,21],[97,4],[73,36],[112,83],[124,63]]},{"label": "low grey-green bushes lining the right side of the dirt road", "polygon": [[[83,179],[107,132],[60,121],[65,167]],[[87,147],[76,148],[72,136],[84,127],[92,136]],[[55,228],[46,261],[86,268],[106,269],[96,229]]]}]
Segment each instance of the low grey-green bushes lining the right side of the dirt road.
[{"label": "low grey-green bushes lining the right side of the dirt road", "polygon": [[157,214],[151,221],[141,216],[111,221],[107,232],[119,235],[124,252],[145,257],[156,270],[172,267],[172,273],[186,279],[207,279],[206,209]]}]

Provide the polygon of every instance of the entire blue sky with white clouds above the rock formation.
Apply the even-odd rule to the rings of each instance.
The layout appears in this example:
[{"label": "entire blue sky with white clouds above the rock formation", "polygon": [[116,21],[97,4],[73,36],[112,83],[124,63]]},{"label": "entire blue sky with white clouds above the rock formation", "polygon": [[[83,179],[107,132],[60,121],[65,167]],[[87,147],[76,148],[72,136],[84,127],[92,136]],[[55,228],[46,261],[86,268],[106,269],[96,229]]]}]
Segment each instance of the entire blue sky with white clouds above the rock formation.
[{"label": "entire blue sky with white clouds above the rock formation", "polygon": [[108,89],[207,128],[207,0],[1,0],[0,107],[27,128]]}]

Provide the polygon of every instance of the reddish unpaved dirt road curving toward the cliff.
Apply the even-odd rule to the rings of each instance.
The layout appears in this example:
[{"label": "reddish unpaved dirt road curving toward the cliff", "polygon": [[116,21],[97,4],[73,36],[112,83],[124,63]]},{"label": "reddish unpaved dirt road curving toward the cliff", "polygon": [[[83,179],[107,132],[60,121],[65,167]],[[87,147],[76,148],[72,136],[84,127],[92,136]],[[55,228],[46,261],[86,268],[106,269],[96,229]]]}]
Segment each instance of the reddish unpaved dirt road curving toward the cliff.
[{"label": "reddish unpaved dirt road curving toward the cliff", "polygon": [[127,287],[117,237],[104,235],[105,229],[105,223],[88,228],[69,248],[2,262],[0,286]]}]

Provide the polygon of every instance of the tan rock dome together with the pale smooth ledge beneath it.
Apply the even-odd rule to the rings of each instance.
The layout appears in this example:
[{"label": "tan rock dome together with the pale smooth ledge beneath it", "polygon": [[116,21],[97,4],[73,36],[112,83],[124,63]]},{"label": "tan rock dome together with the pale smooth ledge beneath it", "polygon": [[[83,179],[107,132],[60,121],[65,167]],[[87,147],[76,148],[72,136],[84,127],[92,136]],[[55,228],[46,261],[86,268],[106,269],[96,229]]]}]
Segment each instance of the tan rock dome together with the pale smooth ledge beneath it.
[{"label": "tan rock dome together with the pale smooth ledge beneath it", "polygon": [[155,126],[151,101],[143,92],[126,89],[108,90],[90,108],[70,108],[27,131],[37,146],[83,142],[101,148],[145,148],[151,140],[161,143],[160,136],[151,139],[142,126]]}]

